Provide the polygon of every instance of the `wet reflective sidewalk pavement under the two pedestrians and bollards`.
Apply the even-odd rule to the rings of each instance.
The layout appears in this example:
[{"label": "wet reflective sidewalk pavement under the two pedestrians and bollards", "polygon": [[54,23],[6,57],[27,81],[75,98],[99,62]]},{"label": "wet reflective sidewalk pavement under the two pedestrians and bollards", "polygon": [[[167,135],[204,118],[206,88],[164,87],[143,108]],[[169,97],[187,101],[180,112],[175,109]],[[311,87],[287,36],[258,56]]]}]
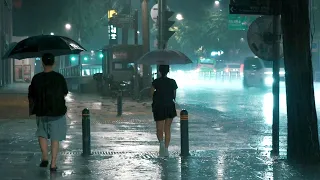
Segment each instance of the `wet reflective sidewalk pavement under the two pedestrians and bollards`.
[{"label": "wet reflective sidewalk pavement under the two pedestrians and bollards", "polygon": [[[54,174],[38,167],[41,154],[34,136],[35,121],[3,119],[0,121],[0,179],[319,179],[318,167],[293,168],[283,160],[271,158],[269,144],[259,143],[270,142],[270,132],[247,137],[240,133],[247,128],[243,121],[229,119],[218,111],[210,112],[209,116],[190,110],[191,156],[188,158],[179,156],[180,123],[175,119],[170,157],[159,158],[150,104],[124,100],[123,116],[117,117],[115,100],[70,94],[68,135],[61,143],[59,170]],[[89,158],[81,156],[84,108],[91,111],[92,156]]]}]

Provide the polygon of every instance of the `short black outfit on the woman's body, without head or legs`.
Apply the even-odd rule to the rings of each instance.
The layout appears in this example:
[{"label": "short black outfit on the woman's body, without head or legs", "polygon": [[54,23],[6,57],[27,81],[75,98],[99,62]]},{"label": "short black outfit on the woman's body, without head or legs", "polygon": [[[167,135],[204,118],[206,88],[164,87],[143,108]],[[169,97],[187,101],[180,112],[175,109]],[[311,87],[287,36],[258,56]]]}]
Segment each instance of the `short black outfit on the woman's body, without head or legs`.
[{"label": "short black outfit on the woman's body, without head or legs", "polygon": [[173,119],[177,116],[174,91],[178,89],[174,79],[161,77],[152,82],[155,88],[152,102],[152,112],[155,121]]}]

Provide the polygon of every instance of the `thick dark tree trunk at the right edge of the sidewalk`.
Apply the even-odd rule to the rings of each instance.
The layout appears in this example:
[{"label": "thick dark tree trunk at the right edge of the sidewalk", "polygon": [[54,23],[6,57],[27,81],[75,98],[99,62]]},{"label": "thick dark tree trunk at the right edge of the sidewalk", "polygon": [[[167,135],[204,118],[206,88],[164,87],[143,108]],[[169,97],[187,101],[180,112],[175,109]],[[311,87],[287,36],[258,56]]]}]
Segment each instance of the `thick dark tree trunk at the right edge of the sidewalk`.
[{"label": "thick dark tree trunk at the right edge of the sidewalk", "polygon": [[287,156],[289,161],[298,163],[318,162],[320,151],[310,50],[309,3],[306,0],[283,0],[282,7]]}]

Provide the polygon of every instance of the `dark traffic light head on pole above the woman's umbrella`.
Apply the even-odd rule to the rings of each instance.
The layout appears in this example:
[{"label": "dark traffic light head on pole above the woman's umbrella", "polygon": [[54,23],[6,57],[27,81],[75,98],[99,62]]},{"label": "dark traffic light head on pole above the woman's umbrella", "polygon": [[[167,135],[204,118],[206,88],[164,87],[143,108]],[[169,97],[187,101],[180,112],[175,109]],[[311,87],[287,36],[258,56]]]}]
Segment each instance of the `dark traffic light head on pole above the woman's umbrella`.
[{"label": "dark traffic light head on pole above the woman's umbrella", "polygon": [[167,44],[169,39],[174,35],[175,31],[172,30],[172,26],[175,21],[170,20],[170,18],[174,15],[173,11],[164,11],[164,20],[163,20],[163,43]]}]

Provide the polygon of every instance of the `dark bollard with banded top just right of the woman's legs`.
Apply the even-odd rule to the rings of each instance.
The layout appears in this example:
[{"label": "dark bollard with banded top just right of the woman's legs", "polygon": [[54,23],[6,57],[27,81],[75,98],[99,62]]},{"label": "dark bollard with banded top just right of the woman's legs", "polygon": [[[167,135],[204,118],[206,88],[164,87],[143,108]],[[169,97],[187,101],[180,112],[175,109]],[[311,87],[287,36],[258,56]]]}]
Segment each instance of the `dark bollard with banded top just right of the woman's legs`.
[{"label": "dark bollard with banded top just right of the woman's legs", "polygon": [[181,133],[181,154],[189,156],[189,117],[188,111],[183,109],[180,112],[180,133]]}]

